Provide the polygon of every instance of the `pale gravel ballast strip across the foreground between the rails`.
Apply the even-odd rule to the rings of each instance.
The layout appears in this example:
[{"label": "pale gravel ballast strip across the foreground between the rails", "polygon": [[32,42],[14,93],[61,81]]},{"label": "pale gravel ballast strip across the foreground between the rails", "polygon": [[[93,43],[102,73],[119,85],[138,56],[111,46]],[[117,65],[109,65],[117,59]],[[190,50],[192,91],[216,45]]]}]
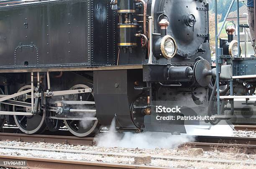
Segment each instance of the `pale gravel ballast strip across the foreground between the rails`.
[{"label": "pale gravel ballast strip across the foreground between the rails", "polygon": [[188,169],[256,168],[256,154],[245,154],[241,149],[220,152],[212,148],[212,151],[205,152],[186,146],[177,149],[138,149],[0,141],[0,154],[118,164],[135,164],[134,157],[147,156],[151,157],[151,162],[148,160],[150,163],[146,164],[148,166]]}]

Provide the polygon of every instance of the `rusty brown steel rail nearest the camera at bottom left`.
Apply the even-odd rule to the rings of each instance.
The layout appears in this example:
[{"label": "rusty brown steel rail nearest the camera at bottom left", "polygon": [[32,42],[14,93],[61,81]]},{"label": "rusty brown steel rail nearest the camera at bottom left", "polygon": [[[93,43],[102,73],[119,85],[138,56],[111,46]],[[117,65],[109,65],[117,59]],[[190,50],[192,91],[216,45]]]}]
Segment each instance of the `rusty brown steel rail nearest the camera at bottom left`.
[{"label": "rusty brown steel rail nearest the camera at bottom left", "polygon": [[[152,167],[131,164],[112,164],[103,162],[85,162],[63,159],[48,159],[38,157],[22,157],[0,155],[0,161],[26,161],[26,167],[41,169],[170,169],[169,167]],[[13,167],[12,165],[4,167]]]}]

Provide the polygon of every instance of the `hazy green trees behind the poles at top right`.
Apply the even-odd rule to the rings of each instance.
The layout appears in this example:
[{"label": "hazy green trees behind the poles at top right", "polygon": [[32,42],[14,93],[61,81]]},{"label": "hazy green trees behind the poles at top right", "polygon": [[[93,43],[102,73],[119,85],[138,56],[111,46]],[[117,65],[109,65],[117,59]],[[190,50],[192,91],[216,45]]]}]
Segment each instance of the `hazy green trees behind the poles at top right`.
[{"label": "hazy green trees behind the poles at top right", "polygon": [[[207,0],[207,2],[209,3],[209,10],[211,12],[215,12],[215,0]],[[222,18],[220,19],[220,22],[222,22],[224,20],[224,17],[226,15],[226,13],[228,12],[228,8],[231,4],[232,0],[217,0],[217,6],[218,6],[218,14],[220,14],[222,16]],[[244,3],[243,2],[239,2],[239,7],[243,6]],[[233,12],[237,9],[237,5],[236,5],[236,1],[233,4],[233,7],[231,8],[230,12]]]}]

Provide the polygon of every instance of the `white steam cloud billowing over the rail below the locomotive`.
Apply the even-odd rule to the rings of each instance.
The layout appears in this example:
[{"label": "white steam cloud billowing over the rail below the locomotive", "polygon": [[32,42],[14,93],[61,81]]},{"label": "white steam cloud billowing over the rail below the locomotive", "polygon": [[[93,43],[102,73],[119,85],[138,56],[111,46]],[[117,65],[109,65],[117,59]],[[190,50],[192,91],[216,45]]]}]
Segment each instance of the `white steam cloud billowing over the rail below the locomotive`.
[{"label": "white steam cloud billowing over the rail below the locomotive", "polygon": [[115,130],[115,119],[113,119],[108,132],[100,133],[95,137],[97,146],[100,147],[123,147],[155,149],[175,148],[186,142],[192,142],[193,138],[186,135],[172,135],[164,132],[126,132],[120,136]]}]

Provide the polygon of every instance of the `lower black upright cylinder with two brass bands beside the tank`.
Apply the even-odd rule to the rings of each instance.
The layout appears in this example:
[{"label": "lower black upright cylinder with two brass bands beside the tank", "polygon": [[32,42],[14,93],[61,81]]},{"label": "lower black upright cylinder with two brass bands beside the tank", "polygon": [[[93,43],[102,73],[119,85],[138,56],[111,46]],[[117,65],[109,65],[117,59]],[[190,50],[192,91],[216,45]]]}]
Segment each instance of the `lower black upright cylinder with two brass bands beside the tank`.
[{"label": "lower black upright cylinder with two brass bands beside the tank", "polygon": [[118,24],[118,47],[135,47],[137,24]]}]

